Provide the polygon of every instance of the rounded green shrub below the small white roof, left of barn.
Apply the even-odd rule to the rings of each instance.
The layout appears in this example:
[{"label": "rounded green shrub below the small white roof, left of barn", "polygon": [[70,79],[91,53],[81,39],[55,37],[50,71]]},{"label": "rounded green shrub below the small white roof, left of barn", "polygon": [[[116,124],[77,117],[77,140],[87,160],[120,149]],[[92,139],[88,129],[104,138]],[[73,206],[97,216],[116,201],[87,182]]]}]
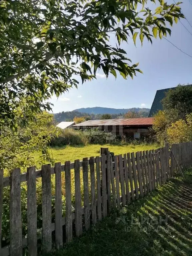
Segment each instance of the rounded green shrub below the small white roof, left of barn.
[{"label": "rounded green shrub below the small white roof, left of barn", "polygon": [[58,137],[54,137],[51,142],[50,146],[64,146],[64,145],[84,145],[87,143],[86,136],[80,130],[74,129],[60,129]]}]

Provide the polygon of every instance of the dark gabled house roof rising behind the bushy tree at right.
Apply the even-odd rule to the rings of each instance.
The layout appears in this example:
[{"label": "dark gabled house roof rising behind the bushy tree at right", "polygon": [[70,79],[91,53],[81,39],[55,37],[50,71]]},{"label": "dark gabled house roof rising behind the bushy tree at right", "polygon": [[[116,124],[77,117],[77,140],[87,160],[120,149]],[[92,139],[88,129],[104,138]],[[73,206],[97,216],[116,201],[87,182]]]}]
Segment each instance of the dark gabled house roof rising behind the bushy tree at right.
[{"label": "dark gabled house roof rising behind the bushy tree at right", "polygon": [[[189,86],[189,85],[192,86],[191,84],[188,84],[185,86]],[[176,87],[157,90],[148,117],[153,117],[159,110],[163,110],[163,105],[161,103],[162,99],[165,97],[166,92],[172,89],[174,90],[175,88]]]}]

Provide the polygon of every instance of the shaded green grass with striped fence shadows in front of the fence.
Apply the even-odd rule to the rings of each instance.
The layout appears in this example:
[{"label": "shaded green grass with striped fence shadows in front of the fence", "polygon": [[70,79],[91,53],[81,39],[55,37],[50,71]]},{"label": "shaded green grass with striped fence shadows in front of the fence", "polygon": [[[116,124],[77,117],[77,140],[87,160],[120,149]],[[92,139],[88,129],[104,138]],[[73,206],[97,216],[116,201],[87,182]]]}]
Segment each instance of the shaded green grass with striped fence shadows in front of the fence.
[{"label": "shaded green grass with striped fence shadows in front of the fence", "polygon": [[192,255],[192,169],[51,255]]}]

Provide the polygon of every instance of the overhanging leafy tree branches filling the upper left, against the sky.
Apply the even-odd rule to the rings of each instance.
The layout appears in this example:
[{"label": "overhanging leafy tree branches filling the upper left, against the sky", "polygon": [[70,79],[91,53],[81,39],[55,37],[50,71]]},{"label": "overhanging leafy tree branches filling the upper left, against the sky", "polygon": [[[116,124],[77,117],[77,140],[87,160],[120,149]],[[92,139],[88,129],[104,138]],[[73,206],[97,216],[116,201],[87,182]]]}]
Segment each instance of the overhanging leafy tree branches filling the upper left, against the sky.
[{"label": "overhanging leafy tree branches filling the upper left, against the sky", "polygon": [[[152,43],[153,36],[170,34],[167,25],[184,17],[179,3],[159,0],[154,12],[146,4],[147,0],[2,0],[0,126],[14,127],[14,110],[24,96],[29,97],[28,111],[50,110],[47,100],[77,87],[78,77],[92,80],[98,69],[107,77],[119,72],[125,79],[141,72],[121,44],[129,38],[136,44],[138,35],[141,43],[144,38]],[[22,117],[23,122],[32,118]]]}]

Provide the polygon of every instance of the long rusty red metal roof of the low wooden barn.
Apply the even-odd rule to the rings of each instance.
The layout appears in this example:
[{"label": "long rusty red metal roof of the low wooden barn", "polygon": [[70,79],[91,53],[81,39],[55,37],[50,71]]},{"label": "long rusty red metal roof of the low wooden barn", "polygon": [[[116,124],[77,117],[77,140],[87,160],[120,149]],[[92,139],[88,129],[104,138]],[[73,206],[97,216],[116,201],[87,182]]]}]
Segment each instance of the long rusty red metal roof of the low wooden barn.
[{"label": "long rusty red metal roof of the low wooden barn", "polygon": [[88,120],[83,123],[73,125],[77,126],[101,126],[101,125],[125,125],[125,126],[147,126],[153,125],[153,117],[143,117],[143,118],[129,118],[129,119],[105,119],[105,120]]}]

